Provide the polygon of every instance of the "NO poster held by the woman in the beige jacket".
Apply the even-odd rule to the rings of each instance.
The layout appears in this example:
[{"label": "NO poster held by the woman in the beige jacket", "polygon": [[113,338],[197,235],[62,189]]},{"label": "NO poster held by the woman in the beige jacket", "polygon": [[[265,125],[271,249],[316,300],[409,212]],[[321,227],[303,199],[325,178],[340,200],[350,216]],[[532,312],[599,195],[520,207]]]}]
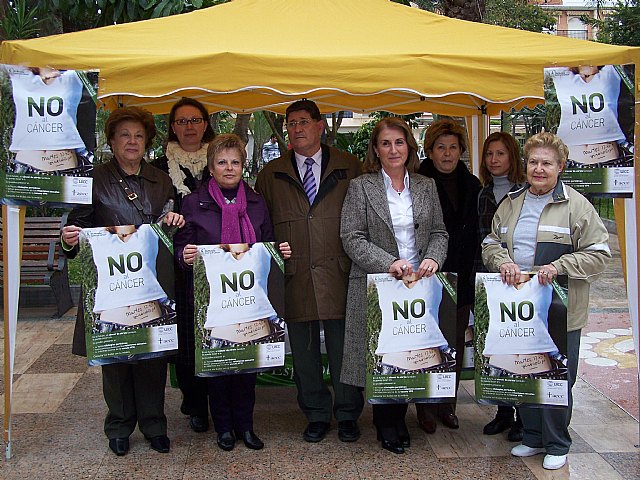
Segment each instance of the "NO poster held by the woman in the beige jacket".
[{"label": "NO poster held by the woman in the beige jacket", "polygon": [[566,276],[541,285],[523,273],[476,275],[476,398],[491,404],[566,406]]}]

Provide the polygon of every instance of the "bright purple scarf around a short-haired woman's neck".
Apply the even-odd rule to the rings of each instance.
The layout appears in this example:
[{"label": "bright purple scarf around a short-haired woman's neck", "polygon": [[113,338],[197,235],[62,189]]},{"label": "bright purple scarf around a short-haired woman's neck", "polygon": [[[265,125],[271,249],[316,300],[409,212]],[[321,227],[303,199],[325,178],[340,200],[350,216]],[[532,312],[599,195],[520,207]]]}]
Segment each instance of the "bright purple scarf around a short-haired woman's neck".
[{"label": "bright purple scarf around a short-haired woman's neck", "polygon": [[256,232],[247,214],[247,196],[244,182],[240,180],[236,203],[227,203],[218,182],[209,181],[209,194],[222,210],[222,229],[220,243],[256,243]]}]

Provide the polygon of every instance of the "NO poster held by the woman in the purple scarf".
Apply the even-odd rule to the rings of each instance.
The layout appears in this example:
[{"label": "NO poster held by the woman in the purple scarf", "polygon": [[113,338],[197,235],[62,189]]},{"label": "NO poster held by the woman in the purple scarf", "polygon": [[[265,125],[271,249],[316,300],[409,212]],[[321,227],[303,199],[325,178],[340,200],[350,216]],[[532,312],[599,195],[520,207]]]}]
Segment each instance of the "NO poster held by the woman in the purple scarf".
[{"label": "NO poster held by the woman in the purple scarf", "polygon": [[193,267],[197,375],[284,365],[283,269],[271,242],[198,247]]}]

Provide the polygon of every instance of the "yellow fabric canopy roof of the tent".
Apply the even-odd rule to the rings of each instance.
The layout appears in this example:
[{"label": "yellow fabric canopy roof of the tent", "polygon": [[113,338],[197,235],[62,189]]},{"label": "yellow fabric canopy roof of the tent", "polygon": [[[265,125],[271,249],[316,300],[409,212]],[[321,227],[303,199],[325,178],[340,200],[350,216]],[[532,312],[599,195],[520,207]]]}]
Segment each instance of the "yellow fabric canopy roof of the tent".
[{"label": "yellow fabric canopy roof of the tent", "polygon": [[208,9],[2,43],[2,63],[99,69],[107,105],[167,112],[282,112],[302,97],[325,113],[472,115],[533,106],[543,68],[640,63],[640,48],[442,17],[387,0],[235,0]]}]

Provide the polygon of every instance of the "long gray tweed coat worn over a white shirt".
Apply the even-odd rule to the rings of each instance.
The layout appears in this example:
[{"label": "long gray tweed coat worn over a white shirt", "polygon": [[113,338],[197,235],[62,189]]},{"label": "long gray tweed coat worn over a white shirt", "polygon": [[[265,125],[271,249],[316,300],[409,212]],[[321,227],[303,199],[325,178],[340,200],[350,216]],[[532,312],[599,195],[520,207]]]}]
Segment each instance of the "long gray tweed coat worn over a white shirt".
[{"label": "long gray tweed coat worn over a white shirt", "polygon": [[[434,181],[410,174],[416,248],[420,261],[443,265],[449,236]],[[367,274],[388,272],[399,257],[382,173],[351,180],[342,207],[340,237],[352,260],[347,292],[344,357],[340,380],[364,387],[366,379]]]}]

